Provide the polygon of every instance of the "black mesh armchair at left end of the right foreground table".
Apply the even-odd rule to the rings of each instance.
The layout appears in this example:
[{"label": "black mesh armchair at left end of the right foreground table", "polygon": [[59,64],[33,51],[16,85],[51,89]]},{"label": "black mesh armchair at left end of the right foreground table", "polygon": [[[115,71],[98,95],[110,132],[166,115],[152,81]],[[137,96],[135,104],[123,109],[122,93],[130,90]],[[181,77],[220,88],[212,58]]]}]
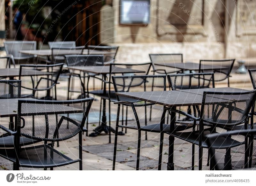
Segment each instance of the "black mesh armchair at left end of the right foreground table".
[{"label": "black mesh armchair at left end of the right foreground table", "polygon": [[[135,76],[112,76],[116,92],[144,92],[144,91],[165,91],[166,90],[166,76],[165,75],[135,75]],[[116,119],[116,133],[114,144],[113,170],[115,170],[116,163],[116,148],[117,148],[117,131],[118,128],[130,128],[138,130],[138,148],[137,148],[137,164],[136,170],[139,170],[140,163],[140,138],[141,131],[160,133],[160,150],[159,150],[159,164],[158,170],[161,170],[162,151],[164,133],[170,130],[169,124],[163,124],[162,129],[160,123],[140,126],[139,116],[135,107],[154,105],[146,101],[140,101],[133,98],[116,96],[118,105],[117,119]],[[136,124],[134,125],[119,125],[119,113],[121,105],[131,106],[134,113]],[[188,129],[189,126],[176,125],[175,131]]]}]

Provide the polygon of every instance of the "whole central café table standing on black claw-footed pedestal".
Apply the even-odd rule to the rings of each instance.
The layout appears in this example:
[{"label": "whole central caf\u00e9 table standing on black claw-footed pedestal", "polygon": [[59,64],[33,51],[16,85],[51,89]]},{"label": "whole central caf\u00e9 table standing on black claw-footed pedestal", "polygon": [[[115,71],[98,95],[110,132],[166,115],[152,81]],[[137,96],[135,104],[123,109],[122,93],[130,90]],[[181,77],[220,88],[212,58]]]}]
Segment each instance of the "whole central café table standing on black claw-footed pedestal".
[{"label": "whole central caf\u00e9 table standing on black claw-footed pedestal", "polygon": [[[68,66],[68,69],[74,71],[81,71],[85,73],[93,73],[96,75],[102,75],[102,81],[103,81],[103,89],[100,90],[95,90],[93,94],[95,95],[102,95],[103,99],[103,109],[102,109],[102,117],[101,117],[101,124],[97,128],[94,129],[94,132],[90,134],[89,136],[98,136],[102,131],[104,131],[106,134],[109,134],[109,143],[111,143],[111,134],[110,131],[115,133],[115,130],[110,127],[110,120],[109,120],[109,126],[107,126],[106,122],[106,99],[109,98],[108,96],[108,91],[107,91],[107,75],[111,76],[111,74],[125,74],[125,73],[145,73],[144,70],[136,70],[136,69],[131,69],[131,68],[124,68],[124,66],[115,66],[115,68],[112,68],[112,66],[105,65],[105,66]],[[90,92],[91,93],[91,92]],[[111,92],[110,92],[111,94]],[[113,93],[114,94],[114,91]],[[110,105],[110,103],[109,103]],[[110,108],[109,108],[110,109]],[[109,114],[110,116],[110,114]],[[109,117],[110,118],[110,117]],[[122,133],[120,133],[122,134]],[[123,135],[123,134],[122,134]]]}]

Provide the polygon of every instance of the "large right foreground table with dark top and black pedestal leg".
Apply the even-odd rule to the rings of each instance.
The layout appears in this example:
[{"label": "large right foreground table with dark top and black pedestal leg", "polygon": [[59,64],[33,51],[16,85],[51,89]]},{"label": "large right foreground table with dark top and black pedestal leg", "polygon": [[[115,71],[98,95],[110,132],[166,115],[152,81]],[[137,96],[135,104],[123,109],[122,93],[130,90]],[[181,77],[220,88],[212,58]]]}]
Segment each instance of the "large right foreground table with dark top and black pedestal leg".
[{"label": "large right foreground table with dark top and black pedestal leg", "polygon": [[[119,96],[130,97],[142,101],[151,102],[158,105],[164,105],[176,109],[177,106],[193,106],[201,105],[204,91],[218,91],[218,92],[242,92],[248,91],[236,88],[209,88],[209,89],[188,89],[188,90],[174,90],[174,91],[155,91],[155,92],[120,92],[116,93]],[[181,99],[182,98],[182,99]],[[170,132],[174,130],[176,113],[171,112]],[[174,170],[173,162],[174,152],[174,136],[169,136],[169,152],[167,170]],[[229,152],[226,154],[230,156]]]}]

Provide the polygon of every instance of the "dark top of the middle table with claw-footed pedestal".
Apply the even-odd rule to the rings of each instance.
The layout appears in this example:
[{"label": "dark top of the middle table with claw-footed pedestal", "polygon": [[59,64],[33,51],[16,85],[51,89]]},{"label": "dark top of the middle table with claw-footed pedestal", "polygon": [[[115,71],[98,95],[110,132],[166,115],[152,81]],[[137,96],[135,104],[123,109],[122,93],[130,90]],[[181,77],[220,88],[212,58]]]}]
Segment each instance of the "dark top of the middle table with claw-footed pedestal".
[{"label": "dark top of the middle table with claw-footed pedestal", "polygon": [[[109,74],[109,66],[68,66],[68,69],[79,70],[82,72],[94,74]],[[131,68],[113,67],[112,73],[145,73],[145,71],[135,70]]]}]

